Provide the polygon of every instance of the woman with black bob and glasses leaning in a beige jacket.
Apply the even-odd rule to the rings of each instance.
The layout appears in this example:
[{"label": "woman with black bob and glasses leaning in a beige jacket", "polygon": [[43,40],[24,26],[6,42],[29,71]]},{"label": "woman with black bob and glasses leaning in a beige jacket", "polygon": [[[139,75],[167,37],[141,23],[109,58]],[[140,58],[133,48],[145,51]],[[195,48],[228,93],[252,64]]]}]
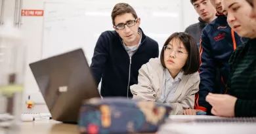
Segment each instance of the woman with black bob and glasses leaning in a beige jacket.
[{"label": "woman with black bob and glasses leaning in a beige jacket", "polygon": [[173,33],[161,50],[139,70],[138,84],[131,86],[133,99],[170,105],[171,114],[194,109],[198,92],[200,58],[194,38],[184,32]]}]

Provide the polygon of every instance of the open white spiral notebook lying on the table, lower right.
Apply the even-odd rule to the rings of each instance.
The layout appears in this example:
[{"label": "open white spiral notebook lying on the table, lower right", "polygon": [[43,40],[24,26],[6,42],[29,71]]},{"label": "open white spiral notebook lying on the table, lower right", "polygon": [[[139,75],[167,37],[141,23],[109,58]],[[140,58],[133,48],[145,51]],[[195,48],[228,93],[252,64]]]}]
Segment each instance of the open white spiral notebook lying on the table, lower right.
[{"label": "open white spiral notebook lying on the table, lower right", "polygon": [[256,134],[256,118],[223,118],[219,116],[169,116],[158,134]]}]

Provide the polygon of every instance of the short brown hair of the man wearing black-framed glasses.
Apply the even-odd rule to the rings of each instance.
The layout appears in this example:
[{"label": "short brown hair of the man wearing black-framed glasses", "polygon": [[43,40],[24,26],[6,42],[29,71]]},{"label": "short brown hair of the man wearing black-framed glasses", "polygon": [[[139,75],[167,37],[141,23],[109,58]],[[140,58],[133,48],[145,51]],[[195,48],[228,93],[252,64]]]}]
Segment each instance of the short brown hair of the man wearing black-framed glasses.
[{"label": "short brown hair of the man wearing black-framed glasses", "polygon": [[112,10],[111,17],[112,17],[112,24],[115,25],[115,18],[116,16],[125,14],[125,13],[131,13],[133,14],[133,17],[135,19],[138,18],[137,13],[135,12],[134,8],[131,7],[127,3],[117,3],[115,7]]}]

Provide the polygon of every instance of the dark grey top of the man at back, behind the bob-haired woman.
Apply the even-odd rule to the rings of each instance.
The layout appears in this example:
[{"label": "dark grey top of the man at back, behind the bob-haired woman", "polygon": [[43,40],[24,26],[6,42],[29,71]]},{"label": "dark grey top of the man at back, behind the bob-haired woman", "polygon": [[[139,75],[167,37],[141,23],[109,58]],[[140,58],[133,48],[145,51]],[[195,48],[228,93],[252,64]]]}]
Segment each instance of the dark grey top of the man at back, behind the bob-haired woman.
[{"label": "dark grey top of the man at back, behind the bob-haired woman", "polygon": [[202,18],[200,17],[198,18],[198,20],[199,20],[198,23],[192,24],[186,27],[185,32],[190,34],[192,37],[194,37],[199,48],[202,31],[203,31],[203,28],[207,25],[207,23],[203,21]]}]

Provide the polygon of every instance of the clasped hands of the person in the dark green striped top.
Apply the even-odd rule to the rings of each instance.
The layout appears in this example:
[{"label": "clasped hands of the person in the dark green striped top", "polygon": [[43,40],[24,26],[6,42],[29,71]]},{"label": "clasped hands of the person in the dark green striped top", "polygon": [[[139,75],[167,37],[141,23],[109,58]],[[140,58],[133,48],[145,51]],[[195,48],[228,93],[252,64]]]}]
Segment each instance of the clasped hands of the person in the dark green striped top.
[{"label": "clasped hands of the person in the dark green striped top", "polygon": [[205,99],[213,107],[211,109],[212,114],[216,116],[234,117],[236,97],[209,93]]}]

